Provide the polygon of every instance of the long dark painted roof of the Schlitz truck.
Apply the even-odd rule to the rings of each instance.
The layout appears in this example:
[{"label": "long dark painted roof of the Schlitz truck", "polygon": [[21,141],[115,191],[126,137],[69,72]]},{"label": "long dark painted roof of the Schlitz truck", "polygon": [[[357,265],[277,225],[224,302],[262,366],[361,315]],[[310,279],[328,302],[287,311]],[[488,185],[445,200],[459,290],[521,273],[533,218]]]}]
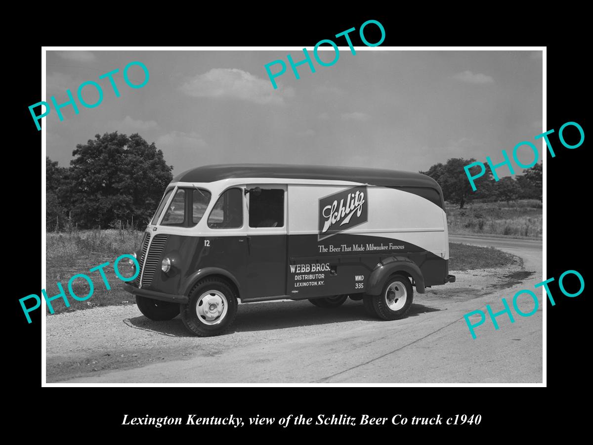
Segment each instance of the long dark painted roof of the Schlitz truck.
[{"label": "long dark painted roof of the Schlitz truck", "polygon": [[286,164],[221,164],[196,167],[178,174],[172,182],[213,182],[241,177],[340,180],[392,187],[431,187],[441,192],[441,187],[434,179],[411,171]]}]

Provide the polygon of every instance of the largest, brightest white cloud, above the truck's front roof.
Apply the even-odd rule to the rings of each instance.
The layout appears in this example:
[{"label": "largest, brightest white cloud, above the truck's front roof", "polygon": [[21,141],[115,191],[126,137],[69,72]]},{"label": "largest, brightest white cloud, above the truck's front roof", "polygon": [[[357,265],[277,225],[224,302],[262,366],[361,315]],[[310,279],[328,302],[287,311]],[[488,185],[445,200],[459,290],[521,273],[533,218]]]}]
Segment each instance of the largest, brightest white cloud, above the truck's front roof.
[{"label": "largest, brightest white cloud, above the truck's front roof", "polygon": [[193,97],[227,97],[273,105],[294,96],[292,88],[275,90],[269,81],[235,68],[213,68],[181,85],[181,91]]}]

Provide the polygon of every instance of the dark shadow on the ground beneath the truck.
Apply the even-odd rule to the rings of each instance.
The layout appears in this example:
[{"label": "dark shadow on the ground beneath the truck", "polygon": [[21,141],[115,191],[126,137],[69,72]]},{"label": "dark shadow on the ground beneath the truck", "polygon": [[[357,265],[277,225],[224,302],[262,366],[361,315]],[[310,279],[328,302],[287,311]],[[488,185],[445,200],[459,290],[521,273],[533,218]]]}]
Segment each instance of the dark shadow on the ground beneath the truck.
[{"label": "dark shadow on the ground beneath the truck", "polygon": [[[439,311],[435,307],[423,304],[412,304],[406,317],[417,317],[422,314]],[[273,330],[298,328],[299,326],[325,325],[329,323],[381,320],[368,316],[361,301],[347,301],[335,309],[321,309],[308,301],[280,301],[278,303],[240,304],[237,318],[228,330],[234,332],[254,332],[258,330]],[[154,322],[145,316],[125,319],[123,322],[130,328],[147,330],[174,337],[192,337],[183,326],[179,316],[166,322]],[[225,334],[223,334],[225,335]]]}]

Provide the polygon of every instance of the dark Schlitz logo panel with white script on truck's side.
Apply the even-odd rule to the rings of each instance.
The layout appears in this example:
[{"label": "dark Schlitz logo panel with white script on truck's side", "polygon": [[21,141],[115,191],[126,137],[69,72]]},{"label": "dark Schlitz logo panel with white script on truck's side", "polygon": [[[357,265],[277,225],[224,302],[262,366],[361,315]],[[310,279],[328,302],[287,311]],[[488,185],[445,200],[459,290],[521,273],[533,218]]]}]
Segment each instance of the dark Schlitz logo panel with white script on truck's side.
[{"label": "dark Schlitz logo panel with white script on truck's side", "polygon": [[319,199],[319,241],[368,220],[366,186],[352,187]]}]

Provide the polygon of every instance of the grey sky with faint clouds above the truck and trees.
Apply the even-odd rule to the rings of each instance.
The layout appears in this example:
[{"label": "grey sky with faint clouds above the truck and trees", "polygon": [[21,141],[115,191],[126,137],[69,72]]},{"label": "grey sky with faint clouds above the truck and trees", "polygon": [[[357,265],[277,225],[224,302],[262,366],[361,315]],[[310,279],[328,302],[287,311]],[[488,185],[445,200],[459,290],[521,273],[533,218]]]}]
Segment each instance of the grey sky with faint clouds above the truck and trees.
[{"label": "grey sky with faint clouds above the truck and trees", "polygon": [[[76,144],[118,131],[155,142],[173,174],[230,163],[419,171],[452,157],[500,162],[502,150],[511,155],[545,131],[541,51],[357,48],[353,55],[346,46],[334,65],[321,66],[307,49],[315,72],[300,65],[298,80],[286,58],[301,61],[298,50],[48,51],[46,101],[66,102],[66,89],[76,97],[85,81],[101,85],[103,101],[85,108],[76,98],[78,115],[66,106],[62,122],[55,110],[44,117],[47,155],[67,167]],[[334,52],[319,55],[331,62]],[[287,68],[274,89],[264,65],[278,59]],[[122,77],[132,61],[148,69],[142,88]],[[114,69],[120,97],[99,79]],[[138,65],[128,74],[144,81]],[[97,90],[88,85],[82,97],[92,104]],[[541,160],[541,139],[536,146]],[[529,164],[533,154],[523,148],[519,160]]]}]

